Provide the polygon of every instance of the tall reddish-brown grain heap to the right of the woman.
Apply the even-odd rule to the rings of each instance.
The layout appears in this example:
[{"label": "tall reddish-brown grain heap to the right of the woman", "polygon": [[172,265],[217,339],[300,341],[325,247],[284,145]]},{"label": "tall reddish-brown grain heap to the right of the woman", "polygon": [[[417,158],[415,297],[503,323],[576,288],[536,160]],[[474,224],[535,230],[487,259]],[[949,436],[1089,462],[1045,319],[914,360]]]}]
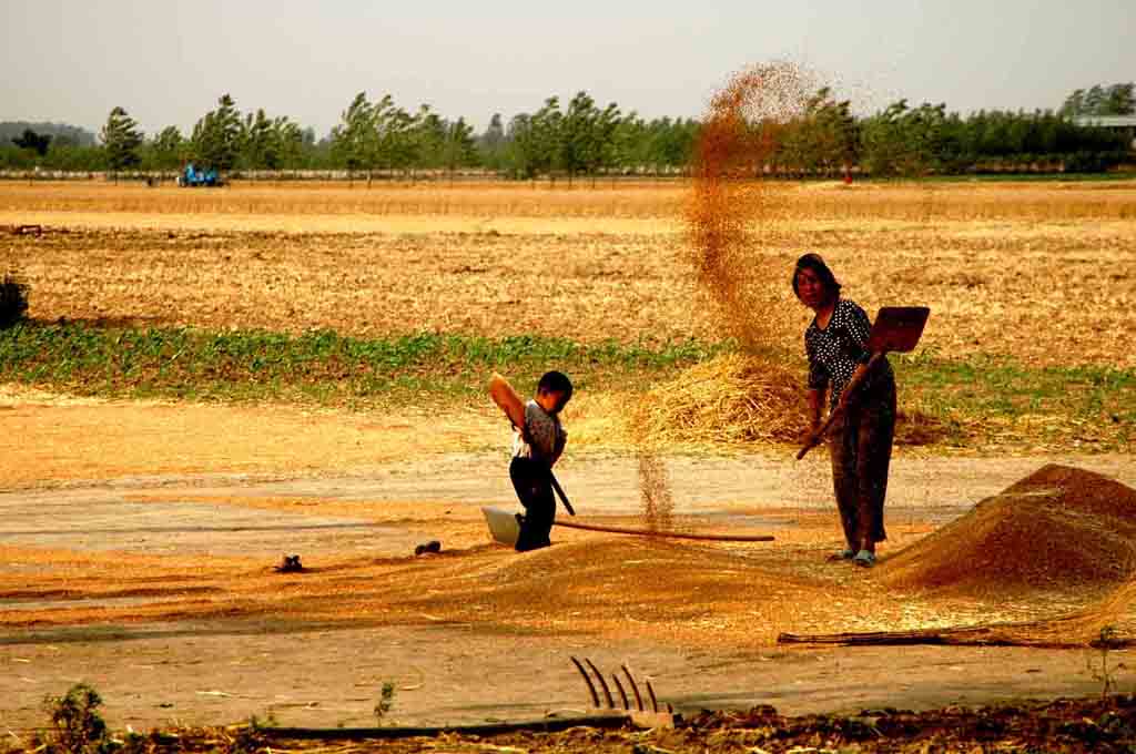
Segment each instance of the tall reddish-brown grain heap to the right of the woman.
[{"label": "tall reddish-brown grain heap to the right of the woman", "polygon": [[891,586],[988,598],[1108,588],[1136,572],[1136,491],[1050,464],[887,561]]}]

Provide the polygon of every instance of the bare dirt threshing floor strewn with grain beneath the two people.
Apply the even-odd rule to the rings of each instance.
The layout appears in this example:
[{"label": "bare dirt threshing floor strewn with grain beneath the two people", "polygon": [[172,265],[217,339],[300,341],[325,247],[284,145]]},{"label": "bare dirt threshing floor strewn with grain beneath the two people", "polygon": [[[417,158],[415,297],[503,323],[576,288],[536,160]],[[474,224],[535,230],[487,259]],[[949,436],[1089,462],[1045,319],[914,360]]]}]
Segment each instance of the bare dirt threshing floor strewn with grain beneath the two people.
[{"label": "bare dirt threshing floor strewn with grain beneath the two people", "polygon": [[[683,710],[927,707],[1100,688],[1080,652],[779,650],[778,627],[1029,610],[934,602],[833,571],[820,455],[666,459],[676,521],[770,531],[771,545],[643,545],[558,529],[552,551],[519,556],[485,544],[478,506],[513,503],[503,454],[469,450],[500,434],[478,414],[425,432],[410,414],[27,395],[7,404],[0,719],[12,729],[42,723],[43,697],[81,680],[107,699],[112,724],[136,729],[266,712],[289,724],[366,724],[385,680],[399,686],[392,715],[402,722],[525,718],[585,705],[571,654],[612,670],[629,661]],[[1047,461],[1136,486],[1131,455],[901,454],[889,548]],[[560,476],[582,518],[641,514],[634,458],[593,450]],[[409,556],[435,537],[443,556]],[[284,552],[314,571],[274,575]],[[766,600],[772,612],[761,613]]]}]

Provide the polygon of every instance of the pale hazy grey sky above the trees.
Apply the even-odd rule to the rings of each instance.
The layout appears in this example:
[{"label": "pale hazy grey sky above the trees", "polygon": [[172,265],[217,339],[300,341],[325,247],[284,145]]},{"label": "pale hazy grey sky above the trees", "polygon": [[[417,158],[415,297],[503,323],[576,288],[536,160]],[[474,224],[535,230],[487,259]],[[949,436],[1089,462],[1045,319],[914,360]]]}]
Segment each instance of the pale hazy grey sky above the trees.
[{"label": "pale hazy grey sky above the trees", "polygon": [[1055,108],[1136,79],[1136,0],[0,0],[0,120],[94,131],[115,106],[189,131],[225,92],[320,136],[360,91],[478,128],[579,90],[698,116],[732,72],[784,58],[861,110]]}]

